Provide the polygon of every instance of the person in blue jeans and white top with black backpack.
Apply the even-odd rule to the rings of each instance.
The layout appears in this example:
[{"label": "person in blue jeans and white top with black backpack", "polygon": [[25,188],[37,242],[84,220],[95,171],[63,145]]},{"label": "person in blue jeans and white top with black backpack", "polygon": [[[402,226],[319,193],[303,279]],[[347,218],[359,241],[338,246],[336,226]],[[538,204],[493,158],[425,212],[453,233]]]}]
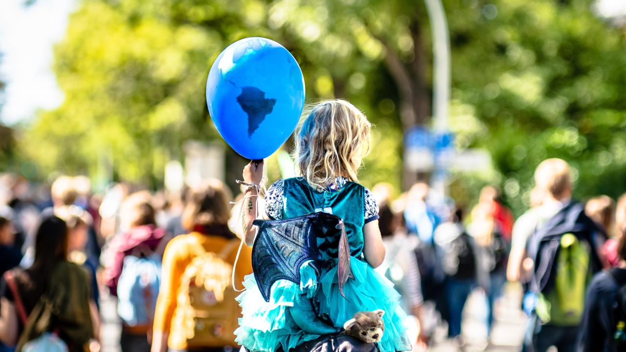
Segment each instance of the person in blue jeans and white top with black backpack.
[{"label": "person in blue jeans and white top with black backpack", "polygon": [[485,282],[485,278],[480,276],[476,242],[463,225],[463,209],[458,207],[454,210],[453,219],[439,225],[434,237],[443,249],[441,267],[446,274],[444,296],[448,309],[444,319],[448,321],[448,338],[463,346],[463,308],[478,282]]}]

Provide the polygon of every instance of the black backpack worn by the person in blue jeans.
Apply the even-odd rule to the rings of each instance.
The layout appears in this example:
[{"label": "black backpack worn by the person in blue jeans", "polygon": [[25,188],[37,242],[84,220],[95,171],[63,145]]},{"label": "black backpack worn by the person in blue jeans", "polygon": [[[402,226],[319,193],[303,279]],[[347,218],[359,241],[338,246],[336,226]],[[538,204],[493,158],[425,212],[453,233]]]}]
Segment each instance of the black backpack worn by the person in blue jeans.
[{"label": "black backpack worn by the person in blue jeans", "polygon": [[443,268],[446,274],[455,279],[476,277],[476,250],[473,239],[462,232],[445,246]]}]

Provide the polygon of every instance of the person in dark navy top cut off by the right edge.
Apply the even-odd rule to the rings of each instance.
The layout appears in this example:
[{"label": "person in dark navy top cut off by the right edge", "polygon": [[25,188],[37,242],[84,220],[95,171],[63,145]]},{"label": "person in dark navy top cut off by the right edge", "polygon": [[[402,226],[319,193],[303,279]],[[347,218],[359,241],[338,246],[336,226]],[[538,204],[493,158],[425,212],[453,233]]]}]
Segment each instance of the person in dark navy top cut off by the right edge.
[{"label": "person in dark navy top cut off by the right edge", "polygon": [[[618,210],[626,213],[626,194],[620,202]],[[618,225],[617,232],[617,266],[596,274],[587,290],[578,331],[580,352],[626,349],[626,224]]]}]

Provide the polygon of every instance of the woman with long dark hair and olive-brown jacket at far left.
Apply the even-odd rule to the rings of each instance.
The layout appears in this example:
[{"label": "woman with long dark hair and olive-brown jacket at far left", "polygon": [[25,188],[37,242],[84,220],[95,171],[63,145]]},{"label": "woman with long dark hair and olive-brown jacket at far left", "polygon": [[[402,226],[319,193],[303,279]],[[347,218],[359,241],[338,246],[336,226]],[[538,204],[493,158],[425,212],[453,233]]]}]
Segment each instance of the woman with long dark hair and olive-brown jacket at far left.
[{"label": "woman with long dark hair and olive-brown jacket at far left", "polygon": [[42,332],[54,332],[69,351],[89,351],[94,330],[88,274],[67,260],[68,228],[63,220],[44,217],[34,254],[29,269],[12,269],[0,282],[0,341],[18,344],[19,350]]}]

